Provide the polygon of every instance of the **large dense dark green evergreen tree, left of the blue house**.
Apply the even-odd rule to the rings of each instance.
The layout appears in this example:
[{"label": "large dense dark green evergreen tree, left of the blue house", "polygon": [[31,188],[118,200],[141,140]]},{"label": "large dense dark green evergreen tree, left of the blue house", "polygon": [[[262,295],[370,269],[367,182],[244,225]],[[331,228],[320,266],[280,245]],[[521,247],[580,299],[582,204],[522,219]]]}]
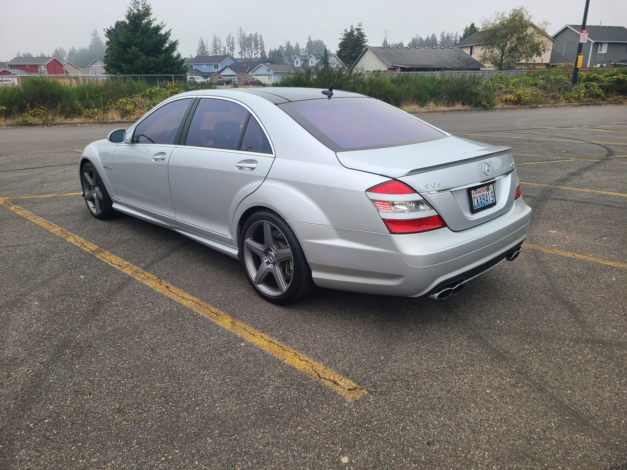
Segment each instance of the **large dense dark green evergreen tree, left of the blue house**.
[{"label": "large dense dark green evergreen tree, left of the blue house", "polygon": [[152,18],[146,0],[131,0],[125,19],[105,31],[105,70],[112,74],[182,74],[185,60],[177,52],[172,30]]}]

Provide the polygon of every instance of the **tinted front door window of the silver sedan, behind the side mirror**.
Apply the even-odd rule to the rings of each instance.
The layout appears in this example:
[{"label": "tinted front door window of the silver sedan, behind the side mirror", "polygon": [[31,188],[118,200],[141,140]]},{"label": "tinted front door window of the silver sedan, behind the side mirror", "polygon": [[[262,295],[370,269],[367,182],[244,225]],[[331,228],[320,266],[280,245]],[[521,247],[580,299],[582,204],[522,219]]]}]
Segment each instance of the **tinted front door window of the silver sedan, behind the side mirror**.
[{"label": "tinted front door window of the silver sedan, behind the side mirror", "polygon": [[176,100],[162,106],[151,113],[137,127],[133,133],[132,144],[174,144],[176,132],[181,125],[189,103],[193,98]]}]

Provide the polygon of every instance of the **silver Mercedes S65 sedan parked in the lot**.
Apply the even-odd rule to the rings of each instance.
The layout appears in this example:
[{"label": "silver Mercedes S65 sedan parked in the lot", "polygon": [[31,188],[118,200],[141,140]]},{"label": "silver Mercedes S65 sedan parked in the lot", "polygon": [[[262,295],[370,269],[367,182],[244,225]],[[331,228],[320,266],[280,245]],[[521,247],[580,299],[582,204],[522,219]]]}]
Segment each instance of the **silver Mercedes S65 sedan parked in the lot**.
[{"label": "silver Mercedes S65 sedan parked in the lot", "polygon": [[312,88],[169,98],[88,145],[80,181],[94,217],[124,212],[238,258],[280,304],[316,286],[446,298],[516,258],[531,215],[507,147]]}]

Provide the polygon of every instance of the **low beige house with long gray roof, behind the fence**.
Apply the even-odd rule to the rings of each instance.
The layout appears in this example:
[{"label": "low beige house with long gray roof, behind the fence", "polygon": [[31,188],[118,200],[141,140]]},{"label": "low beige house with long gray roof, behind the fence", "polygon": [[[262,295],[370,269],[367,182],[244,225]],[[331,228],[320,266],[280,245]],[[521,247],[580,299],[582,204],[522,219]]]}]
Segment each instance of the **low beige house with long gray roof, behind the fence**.
[{"label": "low beige house with long gray roof, behind the fence", "polygon": [[483,65],[460,48],[368,46],[352,65],[355,70],[481,70]]}]

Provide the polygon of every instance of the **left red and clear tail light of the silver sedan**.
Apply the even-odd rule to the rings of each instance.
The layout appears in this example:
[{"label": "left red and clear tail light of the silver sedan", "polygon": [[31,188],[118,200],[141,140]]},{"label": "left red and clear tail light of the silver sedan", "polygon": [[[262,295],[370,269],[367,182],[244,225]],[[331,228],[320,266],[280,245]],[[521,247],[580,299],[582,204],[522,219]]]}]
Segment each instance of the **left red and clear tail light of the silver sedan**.
[{"label": "left red and clear tail light of the silver sedan", "polygon": [[[382,182],[366,189],[366,194],[390,233],[419,233],[446,227],[433,207],[401,181]],[[411,196],[404,198],[403,195]],[[416,217],[419,212],[423,212],[424,216]],[[407,214],[411,218],[387,219],[386,214],[398,214],[401,217],[401,214]]]}]

